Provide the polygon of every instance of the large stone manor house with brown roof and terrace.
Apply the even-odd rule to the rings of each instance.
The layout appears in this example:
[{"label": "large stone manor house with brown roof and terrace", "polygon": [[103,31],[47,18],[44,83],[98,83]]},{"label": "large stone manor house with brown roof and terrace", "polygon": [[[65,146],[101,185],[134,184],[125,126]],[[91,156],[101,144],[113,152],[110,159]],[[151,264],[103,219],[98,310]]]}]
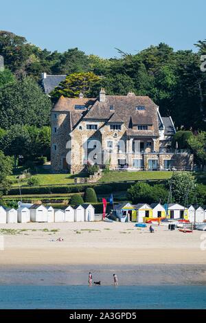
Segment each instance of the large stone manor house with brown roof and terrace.
[{"label": "large stone manor house with brown roof and terrace", "polygon": [[85,165],[113,170],[193,167],[193,155],[171,147],[172,118],[161,117],[148,96],[61,96],[52,109],[52,169],[72,174]]}]

